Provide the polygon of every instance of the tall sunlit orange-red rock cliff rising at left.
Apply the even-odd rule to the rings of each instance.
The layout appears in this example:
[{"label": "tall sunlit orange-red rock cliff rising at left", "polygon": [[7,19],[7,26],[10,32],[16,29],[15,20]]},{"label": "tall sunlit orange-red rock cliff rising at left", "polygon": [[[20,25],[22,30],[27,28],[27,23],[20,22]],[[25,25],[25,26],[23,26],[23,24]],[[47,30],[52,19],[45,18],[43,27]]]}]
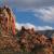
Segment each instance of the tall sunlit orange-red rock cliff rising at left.
[{"label": "tall sunlit orange-red rock cliff rising at left", "polygon": [[15,35],[15,19],[10,8],[0,8],[0,35]]}]

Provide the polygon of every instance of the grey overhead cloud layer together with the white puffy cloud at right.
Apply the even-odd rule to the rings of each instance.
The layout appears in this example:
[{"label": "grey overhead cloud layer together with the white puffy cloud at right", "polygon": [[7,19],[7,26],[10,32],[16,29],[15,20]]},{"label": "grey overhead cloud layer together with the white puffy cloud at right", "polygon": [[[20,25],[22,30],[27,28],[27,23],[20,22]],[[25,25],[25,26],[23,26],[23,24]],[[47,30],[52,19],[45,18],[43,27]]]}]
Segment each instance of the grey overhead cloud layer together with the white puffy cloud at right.
[{"label": "grey overhead cloud layer together with the white puffy cloud at right", "polygon": [[36,10],[35,15],[39,18],[49,23],[54,22],[54,0],[3,0],[3,2],[22,11]]}]

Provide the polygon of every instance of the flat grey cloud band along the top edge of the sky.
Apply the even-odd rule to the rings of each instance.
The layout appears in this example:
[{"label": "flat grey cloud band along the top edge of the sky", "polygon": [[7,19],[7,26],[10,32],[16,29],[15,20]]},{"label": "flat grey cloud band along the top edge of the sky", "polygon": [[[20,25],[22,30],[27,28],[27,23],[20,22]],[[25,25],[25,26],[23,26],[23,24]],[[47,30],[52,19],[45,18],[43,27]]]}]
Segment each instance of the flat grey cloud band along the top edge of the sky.
[{"label": "flat grey cloud band along the top edge of the sky", "polygon": [[3,0],[5,4],[9,4],[10,6],[17,5],[22,9],[30,9],[30,8],[44,8],[44,6],[53,6],[54,0]]}]

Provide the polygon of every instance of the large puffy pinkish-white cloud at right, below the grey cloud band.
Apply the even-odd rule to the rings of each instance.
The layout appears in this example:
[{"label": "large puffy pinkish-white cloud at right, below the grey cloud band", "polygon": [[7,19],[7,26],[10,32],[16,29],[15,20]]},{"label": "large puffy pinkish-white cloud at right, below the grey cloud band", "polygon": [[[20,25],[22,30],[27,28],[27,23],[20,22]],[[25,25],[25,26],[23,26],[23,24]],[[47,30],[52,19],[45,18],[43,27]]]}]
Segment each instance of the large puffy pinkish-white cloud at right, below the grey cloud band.
[{"label": "large puffy pinkish-white cloud at right, below the grey cloud band", "polygon": [[44,22],[54,22],[54,8],[35,10],[35,16],[43,19]]}]

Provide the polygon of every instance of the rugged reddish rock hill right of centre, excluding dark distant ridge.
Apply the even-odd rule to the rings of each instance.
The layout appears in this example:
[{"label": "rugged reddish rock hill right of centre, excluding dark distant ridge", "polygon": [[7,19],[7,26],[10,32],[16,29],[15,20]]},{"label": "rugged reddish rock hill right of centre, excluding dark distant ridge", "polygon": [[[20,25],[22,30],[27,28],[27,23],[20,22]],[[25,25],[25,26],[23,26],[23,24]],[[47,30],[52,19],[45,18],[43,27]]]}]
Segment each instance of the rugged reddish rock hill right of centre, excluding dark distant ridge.
[{"label": "rugged reddish rock hill right of centre, excluding dark distant ridge", "polygon": [[42,49],[45,52],[42,51],[42,54],[53,54],[51,38],[40,35],[39,32],[35,33],[35,31],[30,29],[22,29],[19,33],[21,46],[24,46],[27,52],[36,51],[40,54],[40,49]]}]

